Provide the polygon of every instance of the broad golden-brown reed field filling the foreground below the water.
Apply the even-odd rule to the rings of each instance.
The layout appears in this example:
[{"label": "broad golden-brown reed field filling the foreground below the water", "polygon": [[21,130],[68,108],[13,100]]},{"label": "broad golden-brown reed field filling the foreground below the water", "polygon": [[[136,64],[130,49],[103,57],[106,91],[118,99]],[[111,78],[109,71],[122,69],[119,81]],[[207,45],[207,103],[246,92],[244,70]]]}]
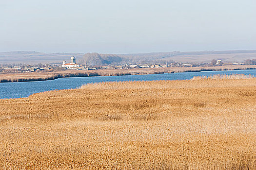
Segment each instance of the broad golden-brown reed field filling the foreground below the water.
[{"label": "broad golden-brown reed field filling the foreground below the water", "polygon": [[256,78],[99,83],[0,100],[0,169],[256,170]]}]

